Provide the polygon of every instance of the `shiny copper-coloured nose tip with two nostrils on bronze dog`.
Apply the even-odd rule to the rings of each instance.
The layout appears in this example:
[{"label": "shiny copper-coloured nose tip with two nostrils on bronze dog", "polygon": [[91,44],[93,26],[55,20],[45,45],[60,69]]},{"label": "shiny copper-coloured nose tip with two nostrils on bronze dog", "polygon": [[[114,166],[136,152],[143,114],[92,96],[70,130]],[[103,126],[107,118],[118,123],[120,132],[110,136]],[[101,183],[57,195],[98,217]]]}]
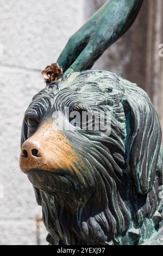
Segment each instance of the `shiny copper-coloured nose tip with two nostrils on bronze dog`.
[{"label": "shiny copper-coloured nose tip with two nostrils on bronze dog", "polygon": [[22,157],[25,158],[33,158],[33,157],[41,157],[41,145],[39,142],[26,141],[22,147]]}]

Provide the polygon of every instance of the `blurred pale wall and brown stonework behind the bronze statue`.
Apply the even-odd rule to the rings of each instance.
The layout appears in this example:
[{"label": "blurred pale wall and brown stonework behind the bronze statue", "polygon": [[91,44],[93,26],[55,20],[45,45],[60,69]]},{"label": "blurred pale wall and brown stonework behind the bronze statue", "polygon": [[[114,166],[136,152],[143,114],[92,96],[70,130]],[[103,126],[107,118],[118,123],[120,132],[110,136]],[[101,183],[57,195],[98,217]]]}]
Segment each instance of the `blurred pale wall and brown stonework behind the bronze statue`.
[{"label": "blurred pale wall and brown stonework behind the bronze statue", "polygon": [[[41,76],[104,0],[0,0],[0,245],[46,245],[32,185],[18,164],[21,124]],[[163,127],[163,1],[144,0],[134,25],[95,64],[146,90]]]}]

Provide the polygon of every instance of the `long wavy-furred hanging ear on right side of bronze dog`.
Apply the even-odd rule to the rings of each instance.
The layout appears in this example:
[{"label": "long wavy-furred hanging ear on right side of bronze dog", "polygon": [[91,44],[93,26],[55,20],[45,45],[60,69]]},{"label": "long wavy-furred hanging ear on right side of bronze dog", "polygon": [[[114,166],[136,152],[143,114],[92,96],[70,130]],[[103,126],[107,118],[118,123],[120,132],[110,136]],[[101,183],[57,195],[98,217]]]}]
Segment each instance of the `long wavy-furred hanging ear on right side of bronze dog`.
[{"label": "long wavy-furred hanging ear on right side of bronze dog", "polygon": [[148,193],[153,186],[161,147],[158,115],[148,95],[139,87],[129,89],[130,111],[129,166],[138,193]]}]

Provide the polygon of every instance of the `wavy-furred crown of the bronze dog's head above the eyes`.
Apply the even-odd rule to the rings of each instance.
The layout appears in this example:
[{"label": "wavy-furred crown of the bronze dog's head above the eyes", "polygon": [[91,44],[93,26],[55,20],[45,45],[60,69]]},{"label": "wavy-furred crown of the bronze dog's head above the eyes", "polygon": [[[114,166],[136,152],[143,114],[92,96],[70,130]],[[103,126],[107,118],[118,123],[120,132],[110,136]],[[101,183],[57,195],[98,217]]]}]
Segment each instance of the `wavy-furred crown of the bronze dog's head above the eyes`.
[{"label": "wavy-furred crown of the bronze dog's head above the eyes", "polygon": [[[120,100],[125,94],[122,78],[109,71],[86,70],[74,72],[71,75],[52,82],[33,97],[30,105],[35,104],[38,108],[45,99],[51,101],[52,105],[70,105],[85,102],[86,105],[105,105],[108,100],[115,99],[117,95]],[[117,99],[117,97],[116,97]]]}]

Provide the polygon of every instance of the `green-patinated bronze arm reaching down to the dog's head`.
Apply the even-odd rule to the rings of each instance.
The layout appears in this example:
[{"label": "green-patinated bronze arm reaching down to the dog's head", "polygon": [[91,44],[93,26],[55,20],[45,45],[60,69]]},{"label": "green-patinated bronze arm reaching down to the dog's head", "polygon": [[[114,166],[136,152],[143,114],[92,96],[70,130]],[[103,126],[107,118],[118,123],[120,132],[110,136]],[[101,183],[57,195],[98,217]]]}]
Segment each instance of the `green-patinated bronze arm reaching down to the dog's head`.
[{"label": "green-patinated bronze arm reaching down to the dog's head", "polygon": [[65,72],[90,69],[133,24],[143,0],[109,0],[68,41],[58,63]]}]

